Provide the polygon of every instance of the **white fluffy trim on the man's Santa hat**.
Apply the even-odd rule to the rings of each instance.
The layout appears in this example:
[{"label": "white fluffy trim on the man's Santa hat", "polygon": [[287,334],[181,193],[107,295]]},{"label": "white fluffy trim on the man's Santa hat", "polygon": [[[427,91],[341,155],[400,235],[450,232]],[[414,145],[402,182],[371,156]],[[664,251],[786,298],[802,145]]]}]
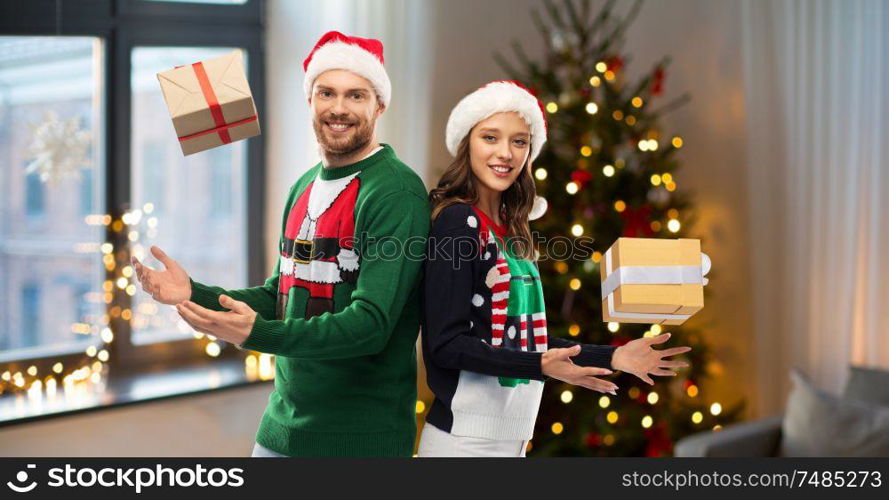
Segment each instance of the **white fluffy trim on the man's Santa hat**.
[{"label": "white fluffy trim on the man's Santa hat", "polygon": [[377,97],[384,106],[389,106],[392,98],[392,84],[386,68],[379,59],[363,48],[340,41],[330,42],[314,52],[312,60],[306,68],[303,90],[306,98],[312,98],[312,86],[318,75],[332,69],[344,69],[370,80],[377,92]]}]

